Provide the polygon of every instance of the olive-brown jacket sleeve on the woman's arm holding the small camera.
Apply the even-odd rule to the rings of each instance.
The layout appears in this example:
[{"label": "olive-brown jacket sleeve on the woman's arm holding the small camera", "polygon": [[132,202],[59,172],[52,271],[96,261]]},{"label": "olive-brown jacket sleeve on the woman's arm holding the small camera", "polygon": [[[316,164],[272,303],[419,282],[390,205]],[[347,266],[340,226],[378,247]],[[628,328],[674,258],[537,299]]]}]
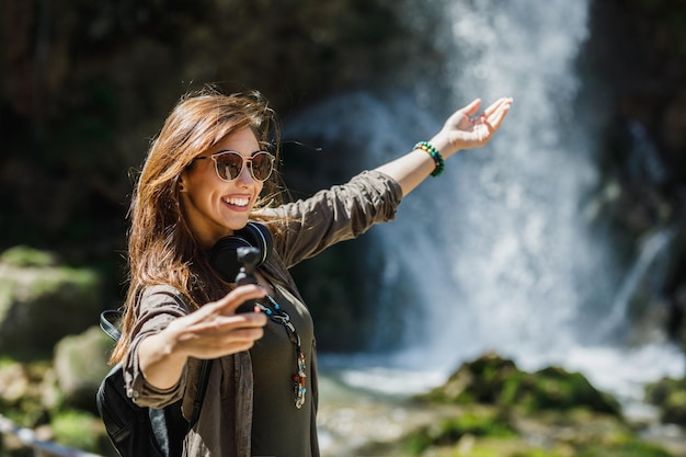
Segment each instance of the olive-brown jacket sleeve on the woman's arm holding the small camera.
[{"label": "olive-brown jacket sleeve on the woman's arm holding the small camera", "polygon": [[174,387],[159,390],[142,376],[138,364],[138,347],[145,338],[160,332],[173,319],[187,315],[188,308],[175,288],[152,286],[144,290],[135,311],[136,325],[132,332],[134,338],[123,361],[126,392],[139,407],[163,408],[183,397],[187,364]]}]

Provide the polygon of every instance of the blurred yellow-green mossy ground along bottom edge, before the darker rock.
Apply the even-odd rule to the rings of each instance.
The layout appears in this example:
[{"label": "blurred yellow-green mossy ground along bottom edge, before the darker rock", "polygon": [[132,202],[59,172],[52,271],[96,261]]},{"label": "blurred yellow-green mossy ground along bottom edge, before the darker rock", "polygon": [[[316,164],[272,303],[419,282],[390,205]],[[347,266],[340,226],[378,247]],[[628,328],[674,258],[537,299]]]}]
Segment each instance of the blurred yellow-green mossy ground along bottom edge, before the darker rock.
[{"label": "blurred yellow-green mossy ground along bottom edge, before the darker rock", "polygon": [[373,443],[369,456],[421,457],[674,457],[636,436],[618,418],[565,412],[505,413],[466,405],[408,433],[397,443]]}]

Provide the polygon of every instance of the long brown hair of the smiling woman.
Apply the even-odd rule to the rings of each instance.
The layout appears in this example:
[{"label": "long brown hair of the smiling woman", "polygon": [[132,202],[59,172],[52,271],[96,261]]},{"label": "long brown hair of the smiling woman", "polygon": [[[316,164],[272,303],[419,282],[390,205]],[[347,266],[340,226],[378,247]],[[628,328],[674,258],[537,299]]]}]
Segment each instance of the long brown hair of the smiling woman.
[{"label": "long brown hair of the smiling woman", "polygon": [[[167,117],[150,145],[132,196],[129,284],[123,334],[111,363],[119,362],[126,353],[135,321],[134,305],[146,286],[169,284],[186,295],[193,309],[207,301],[217,287],[226,287],[206,256],[198,255],[202,249],[184,218],[178,180],[195,157],[242,128],[251,128],[262,148],[278,145],[275,121],[261,94],[226,95],[210,87],[182,96]],[[277,147],[274,149],[278,163]],[[264,183],[256,207],[277,203],[278,188],[275,171]]]}]

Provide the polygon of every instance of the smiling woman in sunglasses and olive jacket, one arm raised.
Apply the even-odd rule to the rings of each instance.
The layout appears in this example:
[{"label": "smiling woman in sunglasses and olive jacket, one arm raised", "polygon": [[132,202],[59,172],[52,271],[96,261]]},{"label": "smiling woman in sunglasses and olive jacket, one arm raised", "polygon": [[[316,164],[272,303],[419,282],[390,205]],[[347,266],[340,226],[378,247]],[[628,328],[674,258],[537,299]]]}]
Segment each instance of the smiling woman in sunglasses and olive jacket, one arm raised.
[{"label": "smiling woman in sunglasses and olive jacket, one arm raised", "polygon": [[[477,114],[475,100],[409,153],[283,204],[266,103],[213,90],[184,96],[152,141],[132,199],[124,336],[112,356],[124,362],[128,395],[155,408],[183,399],[187,416],[201,361],[214,359],[184,455],[319,456],[312,321],[288,269],[391,220],[444,160],[485,145],[511,103]],[[235,245],[245,240],[260,251],[259,285],[236,286]],[[255,312],[236,312],[251,299]]]}]

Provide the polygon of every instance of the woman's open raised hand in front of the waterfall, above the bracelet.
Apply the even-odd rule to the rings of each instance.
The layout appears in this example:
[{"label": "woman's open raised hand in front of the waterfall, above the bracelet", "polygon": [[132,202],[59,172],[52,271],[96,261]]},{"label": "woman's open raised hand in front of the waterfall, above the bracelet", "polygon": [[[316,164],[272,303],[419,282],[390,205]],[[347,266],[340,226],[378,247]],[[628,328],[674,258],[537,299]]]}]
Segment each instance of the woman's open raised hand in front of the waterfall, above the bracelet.
[{"label": "woman's open raised hand in front of the waterfall, above the bracelet", "polygon": [[483,113],[477,114],[481,100],[476,99],[453,113],[431,142],[446,157],[460,149],[484,146],[500,128],[511,105],[511,98],[502,98],[483,110]]}]

